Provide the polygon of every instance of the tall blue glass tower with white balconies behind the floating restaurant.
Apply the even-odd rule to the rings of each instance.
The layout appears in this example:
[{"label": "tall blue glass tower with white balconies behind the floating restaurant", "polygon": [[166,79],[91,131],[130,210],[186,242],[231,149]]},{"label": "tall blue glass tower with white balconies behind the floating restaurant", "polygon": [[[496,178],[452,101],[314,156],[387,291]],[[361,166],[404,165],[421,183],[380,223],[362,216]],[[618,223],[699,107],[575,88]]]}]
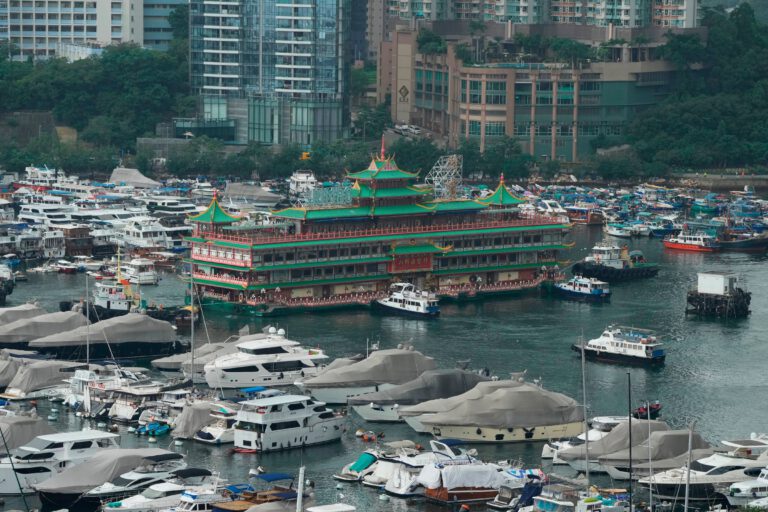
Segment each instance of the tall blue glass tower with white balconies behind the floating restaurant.
[{"label": "tall blue glass tower with white balconies behind the floating restaurant", "polygon": [[198,119],[229,142],[331,141],[349,126],[350,0],[193,0],[191,84]]}]

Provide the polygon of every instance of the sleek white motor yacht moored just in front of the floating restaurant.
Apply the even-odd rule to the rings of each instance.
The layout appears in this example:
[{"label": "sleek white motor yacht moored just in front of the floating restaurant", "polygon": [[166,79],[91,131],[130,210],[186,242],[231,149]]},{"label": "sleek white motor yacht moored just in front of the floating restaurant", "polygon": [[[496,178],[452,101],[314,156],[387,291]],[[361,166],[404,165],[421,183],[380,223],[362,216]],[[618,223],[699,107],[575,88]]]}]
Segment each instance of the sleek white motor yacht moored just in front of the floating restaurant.
[{"label": "sleek white motor yacht moored just in front of the floating restaurant", "polygon": [[285,338],[283,329],[270,328],[266,338],[237,344],[237,352],[207,363],[205,381],[212,388],[290,386],[311,377],[328,359],[320,349],[304,348]]}]

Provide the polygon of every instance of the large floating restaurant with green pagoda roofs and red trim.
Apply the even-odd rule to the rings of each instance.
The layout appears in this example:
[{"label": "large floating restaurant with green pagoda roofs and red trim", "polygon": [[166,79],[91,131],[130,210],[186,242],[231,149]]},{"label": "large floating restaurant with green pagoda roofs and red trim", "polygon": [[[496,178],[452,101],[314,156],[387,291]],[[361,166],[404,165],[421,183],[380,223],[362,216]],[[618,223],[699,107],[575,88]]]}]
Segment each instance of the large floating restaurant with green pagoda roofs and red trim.
[{"label": "large floating restaurant with green pagoda roofs and red trim", "polygon": [[214,197],[190,217],[189,263],[203,302],[257,315],[369,305],[392,282],[440,298],[538,286],[570,224],[522,213],[504,184],[482,199],[435,199],[418,173],[375,157],[350,173],[347,204],[291,207],[248,224]]}]

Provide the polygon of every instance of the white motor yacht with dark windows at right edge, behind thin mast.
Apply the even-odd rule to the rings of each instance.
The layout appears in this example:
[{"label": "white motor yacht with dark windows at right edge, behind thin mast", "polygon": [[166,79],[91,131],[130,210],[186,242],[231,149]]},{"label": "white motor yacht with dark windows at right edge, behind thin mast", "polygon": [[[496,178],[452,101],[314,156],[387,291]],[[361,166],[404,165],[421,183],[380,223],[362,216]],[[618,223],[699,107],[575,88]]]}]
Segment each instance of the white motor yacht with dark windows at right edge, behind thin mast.
[{"label": "white motor yacht with dark windows at right edge, behind thin mast", "polygon": [[[754,480],[768,465],[768,451],[759,457],[746,457],[742,450],[715,453],[691,462],[689,498],[692,501],[714,502],[737,482]],[[685,494],[688,468],[683,466],[641,478],[640,485],[650,488],[662,499],[682,499]]]}]

